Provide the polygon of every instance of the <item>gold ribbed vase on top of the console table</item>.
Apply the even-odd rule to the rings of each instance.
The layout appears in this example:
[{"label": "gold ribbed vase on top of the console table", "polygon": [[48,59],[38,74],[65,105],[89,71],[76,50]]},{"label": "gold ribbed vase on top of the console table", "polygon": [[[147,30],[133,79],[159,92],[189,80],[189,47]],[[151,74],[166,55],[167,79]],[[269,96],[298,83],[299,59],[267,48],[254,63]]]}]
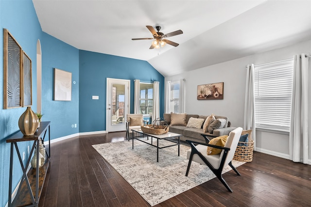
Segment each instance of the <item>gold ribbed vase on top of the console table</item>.
[{"label": "gold ribbed vase on top of the console table", "polygon": [[21,133],[26,136],[35,134],[38,124],[39,119],[30,106],[27,107],[26,111],[18,119],[18,127]]}]

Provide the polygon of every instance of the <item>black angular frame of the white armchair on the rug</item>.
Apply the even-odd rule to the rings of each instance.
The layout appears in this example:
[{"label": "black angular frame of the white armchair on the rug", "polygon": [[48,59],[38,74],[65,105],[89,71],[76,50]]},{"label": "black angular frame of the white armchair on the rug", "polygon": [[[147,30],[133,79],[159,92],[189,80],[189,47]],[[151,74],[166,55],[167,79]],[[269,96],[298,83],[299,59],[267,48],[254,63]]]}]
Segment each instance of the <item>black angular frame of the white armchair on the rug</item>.
[{"label": "black angular frame of the white armchair on the rug", "polygon": [[[222,171],[224,168],[224,164],[225,164],[225,159],[228,155],[228,151],[230,150],[230,148],[227,147],[221,147],[221,146],[217,146],[217,145],[213,145],[213,144],[209,144],[209,139],[207,138],[207,135],[205,134],[201,134],[206,143],[200,143],[200,142],[195,142],[195,141],[190,141],[190,140],[186,140],[190,146],[191,146],[191,154],[190,154],[190,158],[189,158],[189,163],[188,163],[188,167],[187,167],[187,172],[186,172],[186,176],[188,176],[189,170],[190,170],[190,166],[191,166],[191,161],[192,161],[192,157],[194,154],[197,154],[203,161],[204,163],[207,165],[207,167],[217,176],[217,178],[223,183],[223,185],[226,187],[226,189],[230,192],[233,192],[231,190],[231,188],[228,186],[228,184],[226,183],[225,179],[223,178],[222,175]],[[210,146],[210,147],[215,147],[217,149],[224,149],[224,155],[223,158],[220,162],[220,166],[218,169],[215,169],[208,161],[207,159],[195,148],[194,144],[202,144],[202,145],[206,145],[206,146]],[[234,170],[234,172],[236,172],[237,175],[241,174],[238,172],[238,170],[232,165],[231,161],[228,163],[228,165],[232,168],[232,170]]]}]

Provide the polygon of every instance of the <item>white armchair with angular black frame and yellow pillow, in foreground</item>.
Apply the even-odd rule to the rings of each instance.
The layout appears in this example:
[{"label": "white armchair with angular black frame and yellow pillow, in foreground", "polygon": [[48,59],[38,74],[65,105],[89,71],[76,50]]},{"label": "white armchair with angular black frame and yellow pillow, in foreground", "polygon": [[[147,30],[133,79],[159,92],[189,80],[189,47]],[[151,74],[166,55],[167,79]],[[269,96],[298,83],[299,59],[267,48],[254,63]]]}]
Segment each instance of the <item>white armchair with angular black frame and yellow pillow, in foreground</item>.
[{"label": "white armchair with angular black frame and yellow pillow, in foreground", "polygon": [[[237,175],[240,173],[237,169],[232,165],[231,161],[233,159],[235,150],[239,143],[240,137],[242,133],[242,127],[238,127],[229,133],[227,141],[225,142],[224,147],[208,144],[209,139],[206,135],[202,136],[205,138],[206,143],[199,143],[195,141],[187,140],[190,144],[191,149],[187,152],[187,159],[189,159],[186,176],[189,174],[191,161],[198,162],[200,164],[207,165],[209,169],[217,176],[217,178],[223,183],[226,189],[232,192],[231,188],[225,182],[222,172],[223,169],[229,165]],[[222,149],[221,154],[218,155],[207,155],[207,146],[215,147],[218,149]],[[241,175],[240,175],[241,176]]]}]

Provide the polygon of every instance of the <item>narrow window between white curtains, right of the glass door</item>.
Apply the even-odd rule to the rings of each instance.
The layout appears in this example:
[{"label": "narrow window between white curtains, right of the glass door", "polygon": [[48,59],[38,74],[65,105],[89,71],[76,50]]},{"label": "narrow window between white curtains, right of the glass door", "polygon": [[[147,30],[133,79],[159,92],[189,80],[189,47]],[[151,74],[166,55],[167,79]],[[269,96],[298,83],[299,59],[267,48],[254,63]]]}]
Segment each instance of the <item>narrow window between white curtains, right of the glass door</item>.
[{"label": "narrow window between white curtains, right of the glass door", "polygon": [[141,83],[139,84],[139,111],[144,115],[152,116],[154,103],[154,84]]}]

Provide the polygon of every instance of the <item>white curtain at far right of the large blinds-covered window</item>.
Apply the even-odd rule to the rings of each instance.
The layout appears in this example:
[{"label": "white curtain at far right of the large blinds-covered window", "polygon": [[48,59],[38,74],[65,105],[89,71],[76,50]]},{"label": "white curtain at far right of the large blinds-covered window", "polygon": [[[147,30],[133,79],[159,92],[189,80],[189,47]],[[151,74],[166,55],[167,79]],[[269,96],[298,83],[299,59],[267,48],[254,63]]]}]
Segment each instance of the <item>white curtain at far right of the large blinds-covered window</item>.
[{"label": "white curtain at far right of the large blinds-covered window", "polygon": [[[309,57],[294,56],[294,81],[290,128],[290,158],[308,163],[308,69]],[[300,159],[302,158],[302,160]]]}]

